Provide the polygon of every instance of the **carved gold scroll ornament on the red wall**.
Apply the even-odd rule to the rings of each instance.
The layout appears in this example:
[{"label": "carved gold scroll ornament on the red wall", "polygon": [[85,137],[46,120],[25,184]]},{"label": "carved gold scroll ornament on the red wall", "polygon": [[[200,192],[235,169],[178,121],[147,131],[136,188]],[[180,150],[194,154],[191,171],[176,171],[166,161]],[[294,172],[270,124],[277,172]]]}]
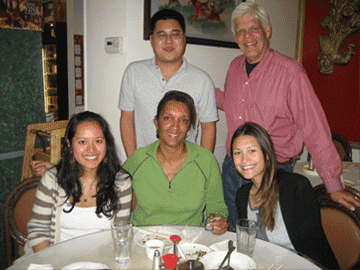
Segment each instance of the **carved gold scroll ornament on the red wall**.
[{"label": "carved gold scroll ornament on the red wall", "polygon": [[321,50],[317,58],[318,68],[324,75],[333,73],[334,64],[347,65],[350,62],[352,55],[355,54],[355,44],[349,43],[348,51],[341,49],[346,40],[360,30],[360,0],[328,0],[328,2],[333,7],[321,23],[321,28],[329,31],[326,36],[318,36]]}]

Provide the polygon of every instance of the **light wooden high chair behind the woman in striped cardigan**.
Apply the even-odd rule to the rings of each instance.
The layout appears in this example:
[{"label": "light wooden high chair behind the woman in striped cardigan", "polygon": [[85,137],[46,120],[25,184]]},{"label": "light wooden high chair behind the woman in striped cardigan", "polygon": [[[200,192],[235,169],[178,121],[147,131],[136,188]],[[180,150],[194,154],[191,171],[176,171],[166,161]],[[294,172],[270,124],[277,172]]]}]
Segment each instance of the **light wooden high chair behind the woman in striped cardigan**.
[{"label": "light wooden high chair behind the woman in striped cardigan", "polygon": [[[61,160],[62,138],[69,120],[30,124],[27,126],[21,181],[34,177],[30,162],[33,159],[57,164]],[[36,137],[50,140],[50,146],[35,148]]]}]

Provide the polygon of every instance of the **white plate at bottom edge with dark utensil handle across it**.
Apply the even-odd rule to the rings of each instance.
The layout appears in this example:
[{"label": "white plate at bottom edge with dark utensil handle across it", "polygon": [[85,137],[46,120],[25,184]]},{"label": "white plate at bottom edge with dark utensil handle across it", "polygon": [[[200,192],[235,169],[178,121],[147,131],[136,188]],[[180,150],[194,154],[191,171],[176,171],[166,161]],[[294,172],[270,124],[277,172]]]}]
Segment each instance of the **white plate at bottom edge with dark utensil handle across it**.
[{"label": "white plate at bottom edge with dark utensil handle across it", "polygon": [[[202,257],[200,262],[204,264],[205,270],[218,269],[226,253],[227,251],[211,252]],[[230,266],[234,269],[256,269],[256,263],[253,259],[236,251],[231,253]]]}]

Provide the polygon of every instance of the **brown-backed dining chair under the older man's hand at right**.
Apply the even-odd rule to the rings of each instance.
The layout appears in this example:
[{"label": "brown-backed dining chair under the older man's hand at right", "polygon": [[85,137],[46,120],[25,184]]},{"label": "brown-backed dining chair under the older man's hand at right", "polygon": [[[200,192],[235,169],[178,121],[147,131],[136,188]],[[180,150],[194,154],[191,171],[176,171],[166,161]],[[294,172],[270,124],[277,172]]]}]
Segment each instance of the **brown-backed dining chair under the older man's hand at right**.
[{"label": "brown-backed dining chair under the older man's hand at right", "polygon": [[[360,192],[346,186],[346,191],[360,198]],[[340,269],[359,269],[360,209],[350,211],[334,202],[324,184],[314,188],[320,203],[321,222]]]}]

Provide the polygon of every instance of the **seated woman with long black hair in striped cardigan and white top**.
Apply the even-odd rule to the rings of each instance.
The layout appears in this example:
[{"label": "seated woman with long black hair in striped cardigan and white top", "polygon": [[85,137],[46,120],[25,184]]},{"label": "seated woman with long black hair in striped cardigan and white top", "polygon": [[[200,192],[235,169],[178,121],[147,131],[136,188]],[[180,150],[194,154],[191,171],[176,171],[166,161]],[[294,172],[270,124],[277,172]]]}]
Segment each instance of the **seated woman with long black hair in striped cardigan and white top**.
[{"label": "seated woman with long black hair in striped cardigan and white top", "polygon": [[47,170],[28,222],[34,252],[73,237],[128,221],[131,177],[121,168],[108,123],[93,112],[69,122],[60,163]]}]

